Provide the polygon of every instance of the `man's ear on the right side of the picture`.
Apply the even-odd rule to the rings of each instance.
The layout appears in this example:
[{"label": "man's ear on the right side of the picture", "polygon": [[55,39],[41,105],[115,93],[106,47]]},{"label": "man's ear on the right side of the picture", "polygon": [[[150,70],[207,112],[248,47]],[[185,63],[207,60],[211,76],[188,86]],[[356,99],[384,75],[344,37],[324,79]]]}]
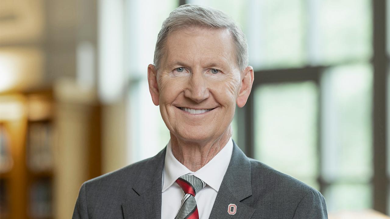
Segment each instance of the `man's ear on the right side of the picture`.
[{"label": "man's ear on the right side of the picture", "polygon": [[237,106],[243,107],[246,104],[246,101],[248,100],[250,91],[252,90],[252,84],[254,80],[254,72],[253,67],[248,66],[244,69],[242,73],[242,79],[241,79],[241,88],[237,96]]}]

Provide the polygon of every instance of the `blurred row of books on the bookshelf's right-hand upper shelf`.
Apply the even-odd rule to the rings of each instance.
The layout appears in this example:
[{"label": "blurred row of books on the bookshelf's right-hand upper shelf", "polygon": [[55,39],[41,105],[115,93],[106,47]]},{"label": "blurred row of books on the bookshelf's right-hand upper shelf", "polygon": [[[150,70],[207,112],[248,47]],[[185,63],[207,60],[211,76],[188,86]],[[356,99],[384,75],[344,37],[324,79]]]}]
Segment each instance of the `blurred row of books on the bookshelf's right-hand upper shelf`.
[{"label": "blurred row of books on the bookshelf's right-hand upper shelf", "polygon": [[33,122],[28,127],[27,134],[27,165],[33,172],[51,171],[52,125],[50,122]]}]

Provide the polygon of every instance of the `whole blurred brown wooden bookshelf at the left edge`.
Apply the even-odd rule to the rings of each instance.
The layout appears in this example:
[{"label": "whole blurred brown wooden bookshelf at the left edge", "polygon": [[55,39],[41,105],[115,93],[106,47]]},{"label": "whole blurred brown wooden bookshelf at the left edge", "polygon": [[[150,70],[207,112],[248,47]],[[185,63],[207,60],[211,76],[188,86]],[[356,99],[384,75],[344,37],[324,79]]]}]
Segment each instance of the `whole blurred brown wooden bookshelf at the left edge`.
[{"label": "whole blurred brown wooden bookshelf at the left edge", "polygon": [[0,217],[53,218],[53,96],[0,98]]}]

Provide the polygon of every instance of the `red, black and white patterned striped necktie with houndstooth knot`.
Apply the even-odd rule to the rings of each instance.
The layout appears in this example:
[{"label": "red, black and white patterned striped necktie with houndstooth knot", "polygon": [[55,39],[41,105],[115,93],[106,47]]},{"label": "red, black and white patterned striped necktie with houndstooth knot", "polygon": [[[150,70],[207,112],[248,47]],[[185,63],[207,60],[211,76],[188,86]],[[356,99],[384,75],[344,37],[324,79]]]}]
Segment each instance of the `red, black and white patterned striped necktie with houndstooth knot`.
[{"label": "red, black and white patterned striped necktie with houndstooth knot", "polygon": [[195,201],[195,194],[203,189],[206,184],[194,175],[183,175],[176,180],[176,183],[184,191],[179,212],[175,219],[199,219],[198,207]]}]

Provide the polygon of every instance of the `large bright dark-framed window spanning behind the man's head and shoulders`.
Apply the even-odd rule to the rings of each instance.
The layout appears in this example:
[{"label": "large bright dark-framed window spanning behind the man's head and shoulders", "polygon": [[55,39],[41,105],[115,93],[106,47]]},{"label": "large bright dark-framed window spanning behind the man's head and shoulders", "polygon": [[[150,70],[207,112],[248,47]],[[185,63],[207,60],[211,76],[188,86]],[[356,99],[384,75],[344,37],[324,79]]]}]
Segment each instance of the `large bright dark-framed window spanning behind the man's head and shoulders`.
[{"label": "large bright dark-framed window spanning behind the man's head and shoulders", "polygon": [[[378,23],[372,12],[376,2],[180,2],[225,11],[246,34],[255,82],[246,106],[236,109],[232,122],[233,139],[239,147],[248,156],[319,189],[329,212],[375,207],[372,114],[373,95],[378,90],[373,86],[376,64],[371,60],[373,22]],[[156,154],[169,139],[158,107],[152,105],[147,92],[146,66],[152,63],[162,21],[178,3],[127,1],[130,136],[131,145],[143,146],[133,147],[132,162]],[[154,16],[144,16],[144,8]],[[387,15],[389,9],[388,4]],[[136,19],[140,17],[142,23]],[[387,25],[390,32],[390,22]],[[390,39],[390,34],[387,37]],[[381,43],[386,48],[385,42]],[[388,44],[387,48],[390,54]],[[390,79],[387,84],[389,100]],[[387,147],[390,157],[390,144]],[[388,166],[390,176],[390,162]],[[387,188],[390,190],[390,184]]]}]

